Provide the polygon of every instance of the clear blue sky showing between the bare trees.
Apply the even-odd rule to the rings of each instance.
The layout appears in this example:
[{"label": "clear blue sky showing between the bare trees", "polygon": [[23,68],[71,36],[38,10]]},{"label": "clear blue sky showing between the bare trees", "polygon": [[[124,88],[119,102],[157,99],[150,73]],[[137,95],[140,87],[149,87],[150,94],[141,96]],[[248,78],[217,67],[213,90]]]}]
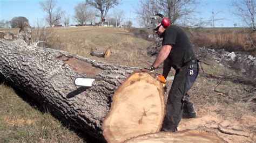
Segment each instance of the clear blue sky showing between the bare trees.
[{"label": "clear blue sky showing between the bare trees", "polygon": [[[74,15],[74,8],[79,2],[85,0],[57,0],[56,7],[59,7],[69,14],[70,17]],[[232,15],[234,8],[231,6],[232,0],[200,0],[197,6],[197,11],[200,12],[198,17],[210,18],[212,11],[218,13],[215,19],[221,18],[215,22],[215,27],[233,27],[234,23],[240,24],[239,19]],[[11,20],[13,17],[23,16],[29,19],[30,25],[36,25],[37,20],[42,21],[46,13],[42,11],[39,6],[42,0],[0,0],[0,20]],[[135,20],[135,11],[139,9],[138,0],[122,0],[121,4],[113,9],[123,10],[125,12],[125,20],[129,20],[131,13],[131,20],[133,26],[138,27]],[[112,10],[108,14],[111,14]],[[71,18],[70,24],[76,24]]]}]

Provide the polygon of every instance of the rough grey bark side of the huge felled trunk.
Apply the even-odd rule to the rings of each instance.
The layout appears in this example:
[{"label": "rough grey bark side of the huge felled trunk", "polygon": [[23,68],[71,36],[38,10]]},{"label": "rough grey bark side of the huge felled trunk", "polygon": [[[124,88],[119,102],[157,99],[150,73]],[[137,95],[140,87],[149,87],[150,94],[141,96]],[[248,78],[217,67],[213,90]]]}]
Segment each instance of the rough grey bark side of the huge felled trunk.
[{"label": "rough grey bark side of the huge felled trunk", "polygon": [[[102,122],[118,85],[136,68],[96,62],[56,49],[0,40],[0,78],[43,104],[65,124],[104,140]],[[94,77],[76,87],[76,77]]]}]

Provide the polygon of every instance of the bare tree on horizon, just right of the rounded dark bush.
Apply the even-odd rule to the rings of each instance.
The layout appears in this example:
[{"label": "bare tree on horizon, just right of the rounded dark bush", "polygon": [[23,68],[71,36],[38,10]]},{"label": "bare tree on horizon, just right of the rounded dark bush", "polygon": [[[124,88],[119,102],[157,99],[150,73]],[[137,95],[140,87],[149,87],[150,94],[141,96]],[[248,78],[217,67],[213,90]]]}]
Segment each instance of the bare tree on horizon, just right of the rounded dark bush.
[{"label": "bare tree on horizon, just right of the rounded dark bush", "polygon": [[48,24],[50,25],[50,27],[52,27],[52,25],[54,25],[54,24],[60,23],[59,20],[64,15],[64,12],[60,8],[57,8],[56,11],[53,11],[53,9],[56,6],[56,2],[54,0],[39,2],[39,4],[40,4],[41,8],[43,9],[43,11],[45,11],[47,13],[47,16],[45,19],[48,22]]}]

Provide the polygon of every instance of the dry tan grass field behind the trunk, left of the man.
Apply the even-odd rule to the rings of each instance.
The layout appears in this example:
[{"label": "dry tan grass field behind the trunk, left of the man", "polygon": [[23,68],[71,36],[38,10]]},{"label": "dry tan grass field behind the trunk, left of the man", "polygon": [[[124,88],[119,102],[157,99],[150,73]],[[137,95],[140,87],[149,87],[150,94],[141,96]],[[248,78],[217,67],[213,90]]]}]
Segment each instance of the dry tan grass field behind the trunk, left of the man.
[{"label": "dry tan grass field behind the trunk, left of the man", "polygon": [[[62,49],[97,61],[132,67],[149,67],[152,59],[146,56],[150,42],[136,38],[122,28],[71,27],[53,28],[55,37],[49,42],[51,48]],[[110,58],[91,56],[91,48],[111,49]],[[150,60],[149,60],[150,59]],[[146,63],[145,63],[146,62]]]}]

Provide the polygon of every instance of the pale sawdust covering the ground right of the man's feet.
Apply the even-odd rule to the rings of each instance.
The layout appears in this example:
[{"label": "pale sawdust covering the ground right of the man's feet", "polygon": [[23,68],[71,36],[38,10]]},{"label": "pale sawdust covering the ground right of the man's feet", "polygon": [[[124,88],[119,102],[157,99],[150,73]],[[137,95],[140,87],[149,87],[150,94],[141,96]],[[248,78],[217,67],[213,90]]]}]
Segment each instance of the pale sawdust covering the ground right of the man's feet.
[{"label": "pale sawdust covering the ground right of the man's feet", "polygon": [[256,137],[249,130],[256,125],[253,115],[242,116],[239,120],[224,119],[219,117],[213,108],[200,109],[197,118],[182,119],[178,131],[184,130],[206,130],[216,133],[227,142],[253,142]]}]

